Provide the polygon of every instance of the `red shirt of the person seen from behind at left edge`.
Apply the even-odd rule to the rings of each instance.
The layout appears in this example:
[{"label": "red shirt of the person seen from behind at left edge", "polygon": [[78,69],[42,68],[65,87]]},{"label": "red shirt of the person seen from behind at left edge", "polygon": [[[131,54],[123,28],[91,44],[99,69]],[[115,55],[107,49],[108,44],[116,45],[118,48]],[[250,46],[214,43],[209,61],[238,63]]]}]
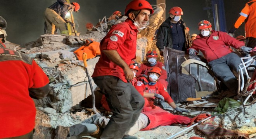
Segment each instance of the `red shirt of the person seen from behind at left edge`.
[{"label": "red shirt of the person seen from behind at left edge", "polygon": [[34,60],[9,49],[0,48],[0,67],[0,138],[22,136],[35,127],[32,98],[47,95],[49,79]]}]

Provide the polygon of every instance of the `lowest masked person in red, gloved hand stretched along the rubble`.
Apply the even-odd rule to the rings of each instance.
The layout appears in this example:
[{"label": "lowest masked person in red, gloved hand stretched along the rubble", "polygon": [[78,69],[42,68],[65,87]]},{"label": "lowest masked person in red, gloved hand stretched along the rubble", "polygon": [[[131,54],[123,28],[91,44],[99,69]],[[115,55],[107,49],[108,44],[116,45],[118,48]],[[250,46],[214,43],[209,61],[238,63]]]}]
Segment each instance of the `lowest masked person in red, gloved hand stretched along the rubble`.
[{"label": "lowest masked person in red, gloved hand stretched along the rubble", "polygon": [[161,68],[152,67],[147,72],[147,78],[143,76],[138,79],[137,83],[135,83],[134,87],[145,99],[145,105],[142,111],[145,112],[154,109],[154,107],[151,107],[152,105],[150,104],[150,102],[152,103],[155,98],[158,98],[162,99],[163,101],[166,100],[168,104],[177,112],[188,112],[185,109],[178,108],[173,102],[173,99],[168,94],[166,88],[161,82],[158,81],[161,75]]}]

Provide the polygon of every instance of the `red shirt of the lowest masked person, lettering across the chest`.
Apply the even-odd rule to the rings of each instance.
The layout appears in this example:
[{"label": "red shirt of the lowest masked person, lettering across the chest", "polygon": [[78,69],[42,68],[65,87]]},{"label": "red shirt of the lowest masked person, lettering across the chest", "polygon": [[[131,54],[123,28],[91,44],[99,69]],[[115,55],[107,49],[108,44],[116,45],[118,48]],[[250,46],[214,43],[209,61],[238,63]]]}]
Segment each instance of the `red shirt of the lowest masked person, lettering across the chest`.
[{"label": "red shirt of the lowest masked person, lettering across the chest", "polygon": [[[156,85],[149,85],[149,84],[145,85],[144,83],[142,83],[142,81],[140,81],[140,79],[138,79],[134,87],[138,90],[138,92],[142,96],[144,96],[144,92],[157,93],[162,95],[164,97],[164,100],[167,101],[168,103],[173,102],[173,99],[171,99],[171,96],[168,94],[166,88],[164,88],[164,86],[159,81],[156,82]],[[153,99],[154,98],[155,97],[153,97]],[[145,102],[145,107],[148,107],[149,105],[146,102]]]}]

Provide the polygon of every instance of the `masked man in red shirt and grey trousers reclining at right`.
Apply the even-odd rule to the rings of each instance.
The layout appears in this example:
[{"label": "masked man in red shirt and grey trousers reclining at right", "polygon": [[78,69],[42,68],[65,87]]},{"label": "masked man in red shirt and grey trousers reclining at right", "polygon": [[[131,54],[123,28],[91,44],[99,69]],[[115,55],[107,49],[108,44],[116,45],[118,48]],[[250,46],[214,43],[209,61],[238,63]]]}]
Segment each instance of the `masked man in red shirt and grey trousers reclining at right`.
[{"label": "masked man in red shirt and grey trousers reclining at right", "polygon": [[226,32],[214,31],[207,20],[199,22],[198,30],[201,33],[188,49],[189,55],[194,56],[200,50],[214,75],[236,94],[238,83],[231,70],[238,73],[241,61],[237,54],[230,51],[229,46],[241,49],[244,53],[249,53],[252,48],[244,46],[244,42],[230,37]]}]

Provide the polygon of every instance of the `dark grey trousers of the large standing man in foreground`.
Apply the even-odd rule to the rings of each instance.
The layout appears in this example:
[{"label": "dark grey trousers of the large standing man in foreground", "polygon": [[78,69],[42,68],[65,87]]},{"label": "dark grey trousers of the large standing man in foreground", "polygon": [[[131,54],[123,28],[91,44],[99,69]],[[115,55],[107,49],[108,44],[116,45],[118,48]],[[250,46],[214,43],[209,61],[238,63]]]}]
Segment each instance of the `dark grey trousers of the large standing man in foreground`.
[{"label": "dark grey trousers of the large standing man in foreground", "polygon": [[113,113],[100,139],[122,139],[138,119],[144,98],[131,83],[125,83],[116,76],[93,77],[93,81],[105,94]]}]

